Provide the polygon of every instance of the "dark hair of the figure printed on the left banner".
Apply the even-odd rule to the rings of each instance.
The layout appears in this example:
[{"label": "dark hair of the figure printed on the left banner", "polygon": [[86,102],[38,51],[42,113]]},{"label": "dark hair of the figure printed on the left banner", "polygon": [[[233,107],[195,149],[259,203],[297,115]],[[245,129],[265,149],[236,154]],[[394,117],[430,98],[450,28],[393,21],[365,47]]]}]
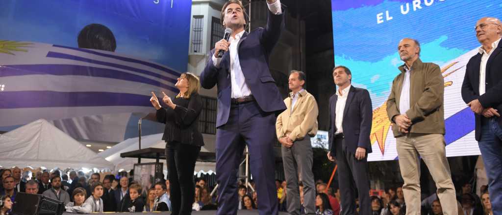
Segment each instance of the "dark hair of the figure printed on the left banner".
[{"label": "dark hair of the figure printed on the left banner", "polygon": [[115,36],[111,30],[102,24],[88,24],[78,34],[79,48],[92,48],[115,51],[117,47]]}]

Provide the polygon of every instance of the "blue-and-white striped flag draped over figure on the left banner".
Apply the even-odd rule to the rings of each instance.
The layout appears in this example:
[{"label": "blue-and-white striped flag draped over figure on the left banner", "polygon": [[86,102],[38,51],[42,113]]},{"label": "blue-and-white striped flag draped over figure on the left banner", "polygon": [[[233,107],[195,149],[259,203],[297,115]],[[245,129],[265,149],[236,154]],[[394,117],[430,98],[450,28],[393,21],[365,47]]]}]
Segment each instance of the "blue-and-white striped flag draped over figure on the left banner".
[{"label": "blue-and-white striped flag draped over figure on the left banner", "polygon": [[150,92],[174,95],[179,75],[167,66],[109,51],[0,40],[0,126],[150,112]]}]

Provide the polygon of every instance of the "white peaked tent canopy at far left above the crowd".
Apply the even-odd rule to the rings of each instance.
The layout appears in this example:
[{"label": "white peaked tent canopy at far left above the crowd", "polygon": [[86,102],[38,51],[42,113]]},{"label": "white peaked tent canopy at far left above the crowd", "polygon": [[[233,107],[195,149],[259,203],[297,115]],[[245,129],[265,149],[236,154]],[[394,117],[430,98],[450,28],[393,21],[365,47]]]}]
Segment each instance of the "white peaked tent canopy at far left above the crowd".
[{"label": "white peaked tent canopy at far left above the crowd", "polygon": [[45,119],[0,134],[0,148],[4,167],[113,169],[112,163]]}]

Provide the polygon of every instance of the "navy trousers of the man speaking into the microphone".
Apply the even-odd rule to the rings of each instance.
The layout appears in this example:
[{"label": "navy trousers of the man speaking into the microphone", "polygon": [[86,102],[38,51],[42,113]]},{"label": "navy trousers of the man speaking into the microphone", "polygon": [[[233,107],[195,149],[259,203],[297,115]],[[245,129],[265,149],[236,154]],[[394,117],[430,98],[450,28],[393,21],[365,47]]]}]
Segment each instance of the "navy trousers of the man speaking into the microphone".
[{"label": "navy trousers of the man speaking into the microphone", "polygon": [[259,213],[278,214],[273,147],[276,119],[273,112],[262,111],[256,101],[231,105],[227,123],[216,131],[216,180],[219,184],[216,214],[237,214],[237,171],[245,145],[249,149]]}]

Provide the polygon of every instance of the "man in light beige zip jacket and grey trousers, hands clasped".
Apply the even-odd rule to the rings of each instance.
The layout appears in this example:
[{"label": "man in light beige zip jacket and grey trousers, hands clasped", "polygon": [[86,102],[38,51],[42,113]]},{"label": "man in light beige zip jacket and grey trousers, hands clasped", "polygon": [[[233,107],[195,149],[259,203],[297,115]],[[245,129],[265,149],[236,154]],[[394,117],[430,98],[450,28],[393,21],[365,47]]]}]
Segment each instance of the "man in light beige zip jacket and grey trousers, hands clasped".
[{"label": "man in light beige zip jacket and grey trousers, hands clasped", "polygon": [[[317,133],[319,109],[314,96],[303,88],[306,75],[292,70],[289,75],[290,96],[284,99],[287,109],[276,121],[276,132],[282,144],[284,175],[286,176],[287,210],[290,214],[315,214],[315,184],[312,173],[312,145],[310,137]],[[298,178],[300,175],[300,178]],[[303,182],[303,206],[300,213],[298,181]]]}]

